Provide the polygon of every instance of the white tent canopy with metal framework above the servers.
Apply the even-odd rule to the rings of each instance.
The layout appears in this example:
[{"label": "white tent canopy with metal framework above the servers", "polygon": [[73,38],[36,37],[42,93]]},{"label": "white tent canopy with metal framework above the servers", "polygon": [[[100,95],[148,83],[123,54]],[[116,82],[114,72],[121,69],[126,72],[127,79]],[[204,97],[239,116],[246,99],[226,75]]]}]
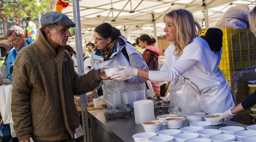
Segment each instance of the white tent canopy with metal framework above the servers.
[{"label": "white tent canopy with metal framework above the servers", "polygon": [[[51,0],[50,0],[51,1]],[[203,3],[205,1],[205,4]],[[57,0],[52,0],[52,3]],[[208,11],[209,27],[214,27],[225,11],[237,4],[247,4],[250,9],[254,0],[79,0],[83,44],[94,42],[94,28],[110,23],[121,29],[131,43],[141,34],[154,36],[152,21],[156,23],[157,36],[164,35],[163,16],[172,9],[186,9],[193,13],[202,29],[205,29],[204,8]],[[202,6],[205,5],[205,6]],[[53,8],[55,10],[55,7]],[[73,5],[63,8],[62,13],[73,20]],[[74,36],[68,41],[75,45]]]}]

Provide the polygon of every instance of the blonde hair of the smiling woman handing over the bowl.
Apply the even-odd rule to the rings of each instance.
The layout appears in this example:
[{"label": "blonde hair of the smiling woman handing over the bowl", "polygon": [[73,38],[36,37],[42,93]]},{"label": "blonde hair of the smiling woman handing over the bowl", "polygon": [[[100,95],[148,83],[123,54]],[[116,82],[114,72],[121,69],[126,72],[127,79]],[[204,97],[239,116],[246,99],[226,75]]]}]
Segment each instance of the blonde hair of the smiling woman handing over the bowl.
[{"label": "blonde hair of the smiling woman handing over the bowl", "polygon": [[[185,9],[172,10],[163,16],[163,22],[170,22],[177,27],[176,40],[171,43],[175,46],[173,55],[181,56],[183,49],[193,42],[196,35],[202,33],[200,24],[194,20],[193,14]],[[196,32],[196,27],[198,32]],[[196,34],[197,33],[197,34]],[[179,41],[179,43],[177,43]]]}]

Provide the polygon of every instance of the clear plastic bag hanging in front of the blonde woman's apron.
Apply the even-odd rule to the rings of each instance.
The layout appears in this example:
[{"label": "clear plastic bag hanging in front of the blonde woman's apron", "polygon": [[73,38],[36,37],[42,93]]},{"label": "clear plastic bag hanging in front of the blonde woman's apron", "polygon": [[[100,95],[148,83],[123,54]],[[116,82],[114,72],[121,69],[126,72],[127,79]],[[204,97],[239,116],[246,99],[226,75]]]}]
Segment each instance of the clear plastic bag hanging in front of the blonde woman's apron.
[{"label": "clear plastic bag hanging in front of the blonde woman's apron", "polygon": [[204,107],[203,97],[180,79],[173,81],[170,94],[170,114],[184,117],[187,113],[200,112]]}]

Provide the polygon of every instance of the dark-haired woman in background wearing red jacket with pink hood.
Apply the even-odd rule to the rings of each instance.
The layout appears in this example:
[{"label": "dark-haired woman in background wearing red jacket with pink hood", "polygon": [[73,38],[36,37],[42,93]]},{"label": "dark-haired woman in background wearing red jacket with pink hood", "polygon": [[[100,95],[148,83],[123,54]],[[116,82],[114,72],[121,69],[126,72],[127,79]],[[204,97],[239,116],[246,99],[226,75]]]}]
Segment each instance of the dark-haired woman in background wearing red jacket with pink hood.
[{"label": "dark-haired woman in background wearing red jacket with pink hood", "polygon": [[[151,44],[156,43],[156,39],[151,38],[149,35],[141,35],[139,37],[139,46],[141,49],[145,48],[142,58],[146,61],[150,71],[158,71],[158,57],[162,55],[159,49]],[[151,81],[155,94],[160,95],[160,83]]]}]

